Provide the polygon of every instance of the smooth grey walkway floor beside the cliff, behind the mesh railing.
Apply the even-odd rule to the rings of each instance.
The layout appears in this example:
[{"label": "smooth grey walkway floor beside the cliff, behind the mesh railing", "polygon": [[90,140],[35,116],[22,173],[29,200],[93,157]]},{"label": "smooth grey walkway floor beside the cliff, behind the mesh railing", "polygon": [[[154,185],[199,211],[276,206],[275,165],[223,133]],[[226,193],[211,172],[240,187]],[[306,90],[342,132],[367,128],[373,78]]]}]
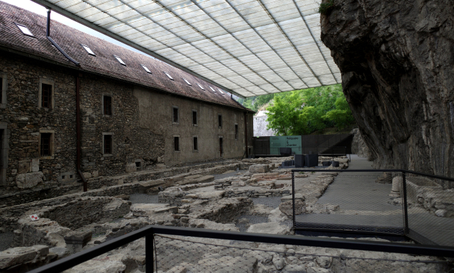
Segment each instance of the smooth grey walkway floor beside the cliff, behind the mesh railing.
[{"label": "smooth grey walkway floor beside the cliff, behind the mesh railing", "polygon": [[[372,169],[371,162],[352,155],[349,169]],[[340,211],[331,214],[302,214],[297,223],[321,225],[360,225],[404,227],[402,206],[389,204],[394,197],[388,196],[392,184],[380,184],[375,180],[381,172],[343,172],[328,186],[317,204],[339,205]],[[297,187],[297,181],[295,187]],[[419,206],[409,207],[409,228],[433,243],[454,246],[454,219],[437,217]],[[383,231],[387,231],[384,229]]]}]

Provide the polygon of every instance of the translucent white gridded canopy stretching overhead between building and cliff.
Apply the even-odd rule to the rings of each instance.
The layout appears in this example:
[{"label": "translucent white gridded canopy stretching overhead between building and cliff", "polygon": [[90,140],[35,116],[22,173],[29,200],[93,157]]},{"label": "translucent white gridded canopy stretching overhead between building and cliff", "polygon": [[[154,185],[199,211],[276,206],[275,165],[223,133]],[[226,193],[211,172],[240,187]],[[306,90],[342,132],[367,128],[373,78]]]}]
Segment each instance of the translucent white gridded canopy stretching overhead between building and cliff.
[{"label": "translucent white gridded canopy stretching overhead between building and cliff", "polygon": [[341,82],[319,0],[33,0],[240,96]]}]

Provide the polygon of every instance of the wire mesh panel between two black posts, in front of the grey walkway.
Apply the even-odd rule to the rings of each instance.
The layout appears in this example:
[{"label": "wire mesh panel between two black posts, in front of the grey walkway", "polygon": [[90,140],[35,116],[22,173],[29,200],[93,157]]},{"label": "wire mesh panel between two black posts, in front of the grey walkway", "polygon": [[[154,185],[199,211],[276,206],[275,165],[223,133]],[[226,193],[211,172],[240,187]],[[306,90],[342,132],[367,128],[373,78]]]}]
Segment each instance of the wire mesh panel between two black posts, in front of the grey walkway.
[{"label": "wire mesh panel between two black posts, in front of the grey walkway", "polygon": [[294,172],[294,206],[303,207],[295,211],[295,229],[404,235],[402,203],[392,202],[392,184],[377,183],[381,174]]}]

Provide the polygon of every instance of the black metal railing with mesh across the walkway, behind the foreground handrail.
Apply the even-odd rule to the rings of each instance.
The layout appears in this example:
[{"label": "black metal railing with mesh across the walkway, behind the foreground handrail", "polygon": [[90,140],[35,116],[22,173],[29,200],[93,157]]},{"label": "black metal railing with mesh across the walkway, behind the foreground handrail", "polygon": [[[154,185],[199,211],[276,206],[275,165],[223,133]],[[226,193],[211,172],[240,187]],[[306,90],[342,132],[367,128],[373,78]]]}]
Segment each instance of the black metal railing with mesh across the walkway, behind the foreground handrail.
[{"label": "black metal railing with mesh across the walkway, behind the foreground handrail", "polygon": [[[304,174],[297,177],[301,172],[341,173],[336,177],[338,180],[329,184],[314,204],[319,207],[334,206],[333,211],[324,215],[319,211],[314,214],[310,212],[296,214],[295,194],[298,194],[300,189],[304,190],[305,183]],[[390,176],[391,173],[400,173],[402,177],[399,186],[400,196],[395,199],[389,198],[391,187],[389,184],[380,186],[376,182],[378,176],[370,175],[372,172],[389,173]],[[348,177],[345,173],[361,174]],[[443,191],[442,186],[431,180],[424,180],[423,177],[454,182],[452,177],[405,169],[292,169],[293,228],[309,233],[402,235],[424,245],[454,246],[454,211],[450,212],[454,209],[453,193]],[[345,190],[345,186],[350,188]],[[400,202],[402,204],[399,204]],[[402,222],[397,221],[398,210],[395,206],[399,205],[402,205],[402,211],[399,213]],[[451,205],[453,208],[448,208]],[[436,211],[437,209],[441,211]],[[381,225],[382,223],[384,225]]]}]

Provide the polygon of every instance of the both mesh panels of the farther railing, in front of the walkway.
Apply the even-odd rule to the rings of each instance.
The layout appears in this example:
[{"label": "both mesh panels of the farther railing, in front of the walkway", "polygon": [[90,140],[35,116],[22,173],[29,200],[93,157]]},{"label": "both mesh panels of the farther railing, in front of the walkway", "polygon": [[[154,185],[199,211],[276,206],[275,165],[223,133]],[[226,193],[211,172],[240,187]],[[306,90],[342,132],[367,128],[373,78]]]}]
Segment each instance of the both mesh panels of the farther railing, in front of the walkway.
[{"label": "both mesh panels of the farther railing, in front of the walkway", "polygon": [[311,169],[294,172],[293,181],[297,233],[398,235],[454,246],[454,189],[448,181],[403,172]]}]

